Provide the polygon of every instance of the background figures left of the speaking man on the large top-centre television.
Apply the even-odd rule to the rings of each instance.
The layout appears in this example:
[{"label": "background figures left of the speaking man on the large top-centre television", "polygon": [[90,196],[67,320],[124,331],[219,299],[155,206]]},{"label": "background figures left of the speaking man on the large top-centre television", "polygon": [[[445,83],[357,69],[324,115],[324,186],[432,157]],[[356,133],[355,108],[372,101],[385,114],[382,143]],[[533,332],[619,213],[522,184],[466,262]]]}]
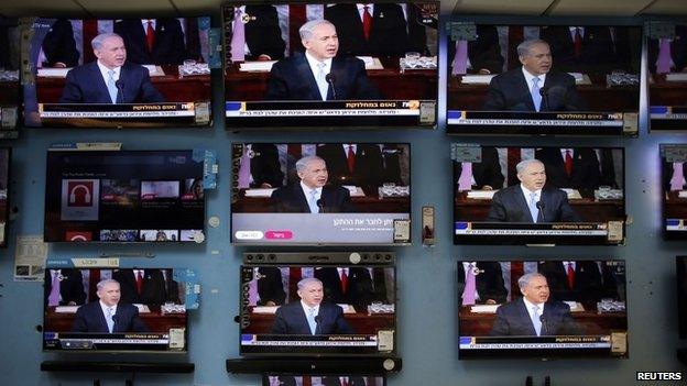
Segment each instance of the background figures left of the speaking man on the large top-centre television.
[{"label": "background figures left of the speaking man on the large top-centre television", "polygon": [[276,9],[270,4],[235,7],[231,22],[231,62],[279,60],[286,44]]}]

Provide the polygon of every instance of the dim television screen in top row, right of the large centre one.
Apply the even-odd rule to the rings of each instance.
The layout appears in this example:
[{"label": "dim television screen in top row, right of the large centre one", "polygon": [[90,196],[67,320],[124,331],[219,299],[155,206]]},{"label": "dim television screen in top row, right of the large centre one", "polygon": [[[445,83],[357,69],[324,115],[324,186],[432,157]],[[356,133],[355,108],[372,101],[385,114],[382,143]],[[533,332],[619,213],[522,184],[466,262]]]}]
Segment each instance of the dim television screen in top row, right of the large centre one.
[{"label": "dim television screen in top row, right of the large centre one", "polygon": [[636,135],[642,29],[451,23],[447,131]]}]

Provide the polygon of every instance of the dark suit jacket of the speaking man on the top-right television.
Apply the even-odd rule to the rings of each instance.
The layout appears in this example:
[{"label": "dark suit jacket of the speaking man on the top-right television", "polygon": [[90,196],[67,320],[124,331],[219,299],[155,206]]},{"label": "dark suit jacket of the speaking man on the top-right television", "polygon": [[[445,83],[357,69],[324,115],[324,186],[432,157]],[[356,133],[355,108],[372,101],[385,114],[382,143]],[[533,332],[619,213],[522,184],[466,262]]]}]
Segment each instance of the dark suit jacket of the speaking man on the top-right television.
[{"label": "dark suit jacket of the speaking man on the top-right television", "polygon": [[[532,95],[522,68],[497,75],[489,84],[489,91],[482,110],[487,111],[535,111]],[[584,111],[585,102],[575,89],[575,78],[565,73],[549,71],[543,90],[539,111]]]}]

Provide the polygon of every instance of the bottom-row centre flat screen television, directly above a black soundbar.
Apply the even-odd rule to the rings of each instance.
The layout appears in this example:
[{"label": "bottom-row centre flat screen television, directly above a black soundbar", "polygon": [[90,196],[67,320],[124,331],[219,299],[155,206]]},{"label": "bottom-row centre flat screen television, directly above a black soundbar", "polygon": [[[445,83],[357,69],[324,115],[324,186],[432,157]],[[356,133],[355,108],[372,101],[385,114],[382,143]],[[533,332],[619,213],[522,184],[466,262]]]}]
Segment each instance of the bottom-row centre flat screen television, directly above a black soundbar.
[{"label": "bottom-row centre flat screen television, directly above a black soundbar", "polygon": [[240,354],[393,355],[393,262],[390,253],[244,255]]}]

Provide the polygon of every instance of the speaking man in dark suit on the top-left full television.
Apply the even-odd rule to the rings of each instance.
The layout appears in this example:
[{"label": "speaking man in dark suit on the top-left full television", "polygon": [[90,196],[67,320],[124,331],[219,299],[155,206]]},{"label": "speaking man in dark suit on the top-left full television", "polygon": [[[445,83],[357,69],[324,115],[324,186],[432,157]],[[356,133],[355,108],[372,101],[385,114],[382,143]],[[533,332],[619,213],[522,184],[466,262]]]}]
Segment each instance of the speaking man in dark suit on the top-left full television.
[{"label": "speaking man in dark suit on the top-left full television", "polygon": [[103,33],[91,42],[96,62],[67,73],[61,103],[150,103],[164,98],[153,87],[148,69],[128,63],[122,38]]}]

